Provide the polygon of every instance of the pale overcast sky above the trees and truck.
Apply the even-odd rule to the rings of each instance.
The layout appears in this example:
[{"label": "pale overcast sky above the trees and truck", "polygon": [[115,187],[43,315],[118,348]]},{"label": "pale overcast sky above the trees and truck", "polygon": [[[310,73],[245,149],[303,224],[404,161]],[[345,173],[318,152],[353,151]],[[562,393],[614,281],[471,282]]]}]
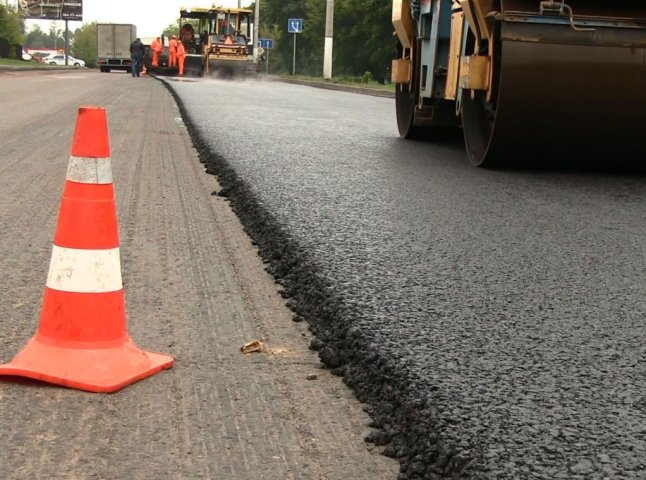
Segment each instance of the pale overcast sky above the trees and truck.
[{"label": "pale overcast sky above the trees and truck", "polygon": [[[9,3],[16,4],[17,1],[10,0]],[[83,23],[132,23],[137,26],[139,37],[155,37],[177,20],[180,7],[210,7],[213,3],[208,0],[83,0]],[[238,6],[238,0],[218,0],[215,3],[224,7]],[[250,3],[251,0],[240,2],[243,8]],[[29,20],[27,28],[34,23],[41,30],[49,31],[51,20]],[[64,28],[64,22],[59,24]],[[70,30],[81,25],[80,22],[69,22]]]}]

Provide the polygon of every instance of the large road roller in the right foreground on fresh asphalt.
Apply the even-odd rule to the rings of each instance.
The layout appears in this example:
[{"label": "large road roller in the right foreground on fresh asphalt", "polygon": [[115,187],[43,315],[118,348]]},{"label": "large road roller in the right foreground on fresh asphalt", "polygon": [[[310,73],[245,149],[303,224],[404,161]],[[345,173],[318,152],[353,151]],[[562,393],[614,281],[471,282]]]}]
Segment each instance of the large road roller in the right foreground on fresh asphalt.
[{"label": "large road roller in the right foreground on fresh asphalt", "polygon": [[646,158],[646,1],[393,0],[399,133],[469,160]]}]

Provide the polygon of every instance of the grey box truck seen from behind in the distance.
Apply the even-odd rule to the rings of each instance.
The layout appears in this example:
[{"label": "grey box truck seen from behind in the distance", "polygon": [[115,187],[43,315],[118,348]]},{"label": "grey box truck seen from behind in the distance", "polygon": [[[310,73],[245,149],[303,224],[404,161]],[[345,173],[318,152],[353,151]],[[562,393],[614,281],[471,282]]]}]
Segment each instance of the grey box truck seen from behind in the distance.
[{"label": "grey box truck seen from behind in the distance", "polygon": [[130,71],[130,44],[137,38],[137,27],[130,24],[99,23],[96,26],[97,64],[102,72]]}]

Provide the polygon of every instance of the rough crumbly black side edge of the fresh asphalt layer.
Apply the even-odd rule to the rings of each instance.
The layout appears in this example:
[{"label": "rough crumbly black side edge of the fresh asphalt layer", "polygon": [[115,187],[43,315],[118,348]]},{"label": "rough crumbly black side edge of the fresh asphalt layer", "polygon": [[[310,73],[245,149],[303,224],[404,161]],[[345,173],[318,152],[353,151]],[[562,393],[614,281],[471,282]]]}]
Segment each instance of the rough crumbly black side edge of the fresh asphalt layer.
[{"label": "rough crumbly black side edge of the fresh asphalt layer", "polygon": [[229,200],[258,247],[266,270],[284,290],[287,306],[297,320],[309,323],[315,336],[310,348],[317,350],[321,362],[366,404],[370,426],[376,430],[365,440],[384,446],[384,455],[400,462],[399,480],[468,477],[478,459],[462,455],[438,439],[431,399],[415,394],[396,359],[381,355],[378,345],[363,335],[352,311],[330,293],[330,279],[317,271],[307,252],[278,226],[227,159],[211,150],[169,82],[156,79],[173,96],[200,162],[222,187],[217,194]]}]

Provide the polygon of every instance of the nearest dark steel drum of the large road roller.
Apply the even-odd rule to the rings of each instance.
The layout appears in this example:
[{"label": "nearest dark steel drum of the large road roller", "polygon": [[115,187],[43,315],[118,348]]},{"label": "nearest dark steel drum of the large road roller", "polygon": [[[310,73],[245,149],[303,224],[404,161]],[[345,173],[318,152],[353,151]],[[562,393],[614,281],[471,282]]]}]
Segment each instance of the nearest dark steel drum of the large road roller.
[{"label": "nearest dark steel drum of the large road roller", "polygon": [[504,22],[492,102],[462,97],[475,165],[526,159],[646,160],[646,36]]}]

